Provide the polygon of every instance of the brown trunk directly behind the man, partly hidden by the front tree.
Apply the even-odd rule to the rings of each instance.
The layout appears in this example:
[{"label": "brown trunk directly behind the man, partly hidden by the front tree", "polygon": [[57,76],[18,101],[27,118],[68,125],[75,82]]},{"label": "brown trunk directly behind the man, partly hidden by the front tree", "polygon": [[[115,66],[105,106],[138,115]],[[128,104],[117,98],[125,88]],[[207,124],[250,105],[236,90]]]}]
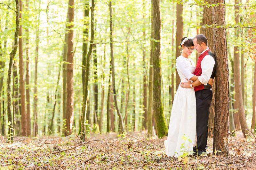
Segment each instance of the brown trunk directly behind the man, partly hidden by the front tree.
[{"label": "brown trunk directly behind the man, partly hidden by the front tree", "polygon": [[[208,4],[212,4],[212,0],[206,0]],[[212,7],[208,8],[204,6],[204,14],[202,24],[212,25]],[[200,32],[207,37],[208,47],[213,49],[213,29],[212,28],[201,28]],[[212,103],[209,109],[209,121],[208,121],[208,136],[213,137],[213,128],[214,128],[214,115],[215,115],[215,85],[212,86]]]}]

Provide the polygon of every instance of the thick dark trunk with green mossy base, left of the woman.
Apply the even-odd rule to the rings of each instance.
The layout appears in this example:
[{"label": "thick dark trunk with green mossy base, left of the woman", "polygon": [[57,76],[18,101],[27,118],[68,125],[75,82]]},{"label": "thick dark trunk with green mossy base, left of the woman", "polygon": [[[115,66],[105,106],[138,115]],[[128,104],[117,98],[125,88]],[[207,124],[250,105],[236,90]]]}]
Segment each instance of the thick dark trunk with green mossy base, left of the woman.
[{"label": "thick dark trunk with green mossy base, left of the woman", "polygon": [[167,135],[168,129],[166,126],[164,111],[161,99],[161,83],[162,83],[162,71],[161,71],[161,14],[160,14],[160,0],[153,0],[153,23],[154,24],[154,36],[153,42],[153,111],[156,119],[156,131],[159,138]]}]

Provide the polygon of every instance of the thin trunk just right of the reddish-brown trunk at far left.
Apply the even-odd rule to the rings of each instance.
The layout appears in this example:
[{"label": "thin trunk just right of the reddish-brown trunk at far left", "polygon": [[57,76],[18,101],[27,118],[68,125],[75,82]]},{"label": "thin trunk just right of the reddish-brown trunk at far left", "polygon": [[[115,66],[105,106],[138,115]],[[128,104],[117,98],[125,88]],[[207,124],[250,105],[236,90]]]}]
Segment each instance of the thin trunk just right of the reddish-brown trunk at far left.
[{"label": "thin trunk just right of the reddish-brown trunk at far left", "polygon": [[[27,7],[27,11],[28,9],[28,0],[26,0],[26,7]],[[26,28],[26,55],[27,55],[27,61],[26,61],[26,107],[27,107],[27,135],[30,136],[31,134],[31,127],[30,127],[30,88],[29,88],[29,56],[28,56],[28,50],[29,50],[29,32],[28,32],[28,28]]]}]

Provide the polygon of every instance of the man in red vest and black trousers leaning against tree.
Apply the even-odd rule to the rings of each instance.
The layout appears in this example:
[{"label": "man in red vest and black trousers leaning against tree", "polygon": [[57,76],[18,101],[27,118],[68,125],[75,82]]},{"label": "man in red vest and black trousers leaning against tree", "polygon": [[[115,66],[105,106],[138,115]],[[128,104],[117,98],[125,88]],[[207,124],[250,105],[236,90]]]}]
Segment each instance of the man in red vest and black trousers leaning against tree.
[{"label": "man in red vest and black trousers leaning against tree", "polygon": [[199,76],[196,81],[181,83],[182,87],[194,87],[196,93],[196,146],[193,155],[201,155],[207,149],[209,108],[212,102],[212,89],[208,84],[210,78],[215,77],[215,55],[208,48],[207,38],[198,34],[193,39],[194,48],[200,53],[196,63],[194,75]]}]

